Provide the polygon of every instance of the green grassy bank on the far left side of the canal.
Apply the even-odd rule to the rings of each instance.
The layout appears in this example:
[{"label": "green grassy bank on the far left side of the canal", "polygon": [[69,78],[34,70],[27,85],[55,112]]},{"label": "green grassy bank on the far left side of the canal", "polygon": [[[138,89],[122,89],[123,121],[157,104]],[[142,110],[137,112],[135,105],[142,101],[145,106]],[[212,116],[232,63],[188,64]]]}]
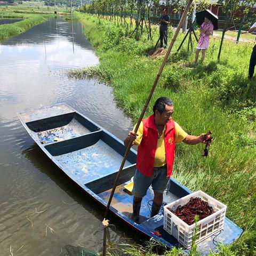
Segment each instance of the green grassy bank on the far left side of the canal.
[{"label": "green grassy bank on the far left side of the canal", "polygon": [[0,42],[17,36],[29,28],[38,25],[39,23],[45,21],[50,17],[54,17],[55,14],[26,14],[26,13],[17,13],[12,10],[3,11],[0,10],[1,19],[22,19],[21,21],[14,22],[11,24],[0,25]]}]

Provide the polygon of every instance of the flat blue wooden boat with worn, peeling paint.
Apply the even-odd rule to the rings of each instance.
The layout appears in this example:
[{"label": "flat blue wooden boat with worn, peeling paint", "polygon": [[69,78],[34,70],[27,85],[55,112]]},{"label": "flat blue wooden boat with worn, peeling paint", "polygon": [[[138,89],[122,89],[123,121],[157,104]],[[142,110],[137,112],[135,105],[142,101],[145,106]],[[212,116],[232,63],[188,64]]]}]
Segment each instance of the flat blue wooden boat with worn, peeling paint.
[{"label": "flat blue wooden boat with worn, peeling paint", "polygon": [[[103,206],[111,193],[116,173],[125,153],[123,142],[113,134],[78,113],[73,108],[59,104],[18,113],[21,123],[37,145],[85,193]],[[140,211],[140,224],[130,218],[133,197],[124,186],[133,177],[137,153],[131,149],[116,188],[110,211],[128,225],[148,237],[154,237],[166,246],[178,246],[177,240],[163,229],[163,212],[149,218],[153,193],[148,189]],[[164,201],[170,203],[192,193],[177,180],[170,179],[170,188]],[[161,237],[153,234],[156,230]],[[242,229],[225,218],[220,234],[212,235],[198,244],[203,255],[214,250],[216,244],[230,244],[242,234]],[[185,250],[187,251],[187,250]]]}]

